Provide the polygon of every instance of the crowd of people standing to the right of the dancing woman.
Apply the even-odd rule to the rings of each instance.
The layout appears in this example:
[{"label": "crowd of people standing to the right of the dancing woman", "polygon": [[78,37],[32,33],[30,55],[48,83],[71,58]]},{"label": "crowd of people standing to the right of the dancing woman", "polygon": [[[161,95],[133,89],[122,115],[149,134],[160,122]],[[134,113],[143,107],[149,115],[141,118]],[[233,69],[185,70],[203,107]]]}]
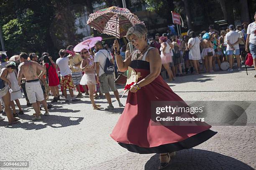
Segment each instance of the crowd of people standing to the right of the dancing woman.
[{"label": "crowd of people standing to the right of the dancing woman", "polygon": [[[200,74],[204,71],[208,73],[221,69],[233,72],[235,61],[237,70],[240,71],[249,51],[249,45],[256,69],[255,48],[253,48],[255,37],[250,36],[255,34],[253,23],[248,26],[245,22],[242,25],[236,25],[236,28],[234,25],[229,25],[227,29],[220,31],[210,25],[208,32],[202,31],[197,35],[193,30],[188,30],[187,35],[182,37],[170,36],[167,33],[160,36],[157,33],[148,43],[159,50],[169,81],[175,80],[176,76],[188,73]],[[226,62],[226,65],[223,64],[222,68],[223,62]]]}]

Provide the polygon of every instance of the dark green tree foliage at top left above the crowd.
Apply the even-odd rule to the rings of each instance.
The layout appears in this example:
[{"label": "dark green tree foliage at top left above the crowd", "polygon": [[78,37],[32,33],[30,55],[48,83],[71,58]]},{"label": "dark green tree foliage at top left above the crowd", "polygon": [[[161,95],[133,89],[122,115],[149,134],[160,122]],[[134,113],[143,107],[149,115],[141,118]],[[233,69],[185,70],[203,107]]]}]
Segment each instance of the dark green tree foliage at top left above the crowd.
[{"label": "dark green tree foliage at top left above the crowd", "polygon": [[[82,5],[70,0],[3,0],[0,25],[8,55],[20,51],[55,53],[81,38],[76,33],[75,12]],[[15,13],[13,13],[15,11]]]}]

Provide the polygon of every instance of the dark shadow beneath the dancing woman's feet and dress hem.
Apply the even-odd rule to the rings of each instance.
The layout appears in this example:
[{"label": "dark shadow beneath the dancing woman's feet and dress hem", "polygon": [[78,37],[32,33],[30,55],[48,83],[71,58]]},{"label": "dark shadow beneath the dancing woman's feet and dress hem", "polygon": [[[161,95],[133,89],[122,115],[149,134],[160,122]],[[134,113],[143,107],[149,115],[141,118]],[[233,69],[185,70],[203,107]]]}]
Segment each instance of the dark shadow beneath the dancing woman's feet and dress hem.
[{"label": "dark shadow beneath the dancing woman's feet and dress hem", "polygon": [[[152,156],[145,165],[145,170],[157,170],[159,154]],[[226,155],[208,150],[188,149],[176,152],[164,170],[254,170],[246,163]]]}]

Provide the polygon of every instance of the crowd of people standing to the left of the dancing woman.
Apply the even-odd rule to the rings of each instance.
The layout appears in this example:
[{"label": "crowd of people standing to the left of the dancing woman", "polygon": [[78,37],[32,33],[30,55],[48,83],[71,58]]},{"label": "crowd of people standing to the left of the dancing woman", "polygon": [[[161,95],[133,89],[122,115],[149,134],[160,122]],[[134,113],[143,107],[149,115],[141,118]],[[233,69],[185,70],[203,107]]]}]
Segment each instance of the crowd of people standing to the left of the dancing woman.
[{"label": "crowd of people standing to the left of the dancing woman", "polygon": [[[109,60],[114,65],[113,55],[103,48],[102,42],[95,43],[95,51],[82,49],[79,53],[74,52],[74,47],[69,45],[67,50],[59,50],[59,58],[54,62],[49,53],[44,52],[39,60],[36,53],[29,55],[21,52],[8,60],[8,57],[0,54],[0,113],[7,115],[9,124],[18,123],[18,115],[24,114],[18,99],[23,98],[22,91],[26,97],[27,106],[32,106],[35,113],[32,120],[40,120],[41,105],[43,105],[45,116],[49,116],[49,109],[52,104],[47,104],[49,95],[53,95],[51,103],[61,100],[60,91],[65,102],[76,102],[85,95],[89,95],[92,107],[100,110],[102,107],[95,104],[95,99],[105,94],[108,107],[105,110],[113,110],[110,91],[118,101],[119,107],[123,107],[120,102],[119,93],[115,85],[114,69],[111,72],[105,70],[105,63]],[[78,91],[74,96],[74,89]],[[69,91],[69,96],[67,95]],[[97,94],[99,93],[99,95]],[[15,110],[15,103],[19,112]],[[3,104],[3,107],[2,107]],[[11,108],[12,107],[12,110]],[[0,117],[0,121],[4,120]]]}]

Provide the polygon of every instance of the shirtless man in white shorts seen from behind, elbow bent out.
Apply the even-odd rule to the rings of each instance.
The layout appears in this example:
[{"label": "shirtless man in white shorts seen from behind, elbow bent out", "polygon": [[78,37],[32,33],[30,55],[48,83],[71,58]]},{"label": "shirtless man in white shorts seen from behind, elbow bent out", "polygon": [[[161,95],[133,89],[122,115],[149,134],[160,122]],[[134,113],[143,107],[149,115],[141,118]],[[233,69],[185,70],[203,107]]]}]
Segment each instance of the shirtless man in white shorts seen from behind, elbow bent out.
[{"label": "shirtless man in white shorts seen from behind, elbow bent out", "polygon": [[[25,52],[20,53],[20,62],[21,63],[18,67],[18,83],[20,84],[21,78],[24,75],[26,78],[26,92],[28,95],[28,100],[32,103],[33,109],[36,112],[35,116],[32,117],[32,120],[40,120],[40,102],[42,102],[44,105],[44,115],[49,116],[47,103],[44,99],[44,93],[39,82],[39,79],[41,79],[41,77],[45,74],[46,70],[37,62],[29,61],[28,55]],[[37,70],[41,71],[39,75],[36,73]]]}]

